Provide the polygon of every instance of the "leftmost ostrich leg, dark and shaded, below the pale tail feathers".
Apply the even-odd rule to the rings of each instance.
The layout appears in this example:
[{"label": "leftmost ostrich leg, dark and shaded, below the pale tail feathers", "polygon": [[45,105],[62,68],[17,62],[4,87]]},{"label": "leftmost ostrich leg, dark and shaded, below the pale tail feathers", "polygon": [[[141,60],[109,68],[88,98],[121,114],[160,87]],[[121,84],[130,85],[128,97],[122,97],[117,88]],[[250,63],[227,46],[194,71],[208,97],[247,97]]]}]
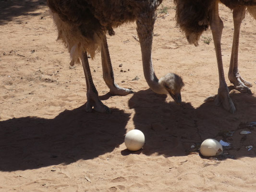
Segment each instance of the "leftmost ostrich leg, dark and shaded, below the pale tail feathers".
[{"label": "leftmost ostrich leg, dark and shaded, below the pale tail feathers", "polygon": [[86,81],[86,88],[87,88],[87,102],[85,111],[92,112],[93,108],[95,111],[101,113],[110,113],[110,108],[105,106],[98,98],[98,91],[93,83],[92,74],[90,71],[90,66],[87,58],[87,53],[82,53],[82,64],[85,72],[85,81]]}]

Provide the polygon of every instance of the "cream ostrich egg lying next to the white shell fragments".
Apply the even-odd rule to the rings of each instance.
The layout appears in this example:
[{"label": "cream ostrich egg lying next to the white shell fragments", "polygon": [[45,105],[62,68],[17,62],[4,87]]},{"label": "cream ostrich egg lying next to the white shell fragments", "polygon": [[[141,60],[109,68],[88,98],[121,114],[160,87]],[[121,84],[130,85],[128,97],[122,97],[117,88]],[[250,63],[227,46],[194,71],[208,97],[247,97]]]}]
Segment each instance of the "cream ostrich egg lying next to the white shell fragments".
[{"label": "cream ostrich egg lying next to the white shell fragments", "polygon": [[219,156],[222,152],[222,145],[215,139],[206,139],[200,147],[203,156]]}]

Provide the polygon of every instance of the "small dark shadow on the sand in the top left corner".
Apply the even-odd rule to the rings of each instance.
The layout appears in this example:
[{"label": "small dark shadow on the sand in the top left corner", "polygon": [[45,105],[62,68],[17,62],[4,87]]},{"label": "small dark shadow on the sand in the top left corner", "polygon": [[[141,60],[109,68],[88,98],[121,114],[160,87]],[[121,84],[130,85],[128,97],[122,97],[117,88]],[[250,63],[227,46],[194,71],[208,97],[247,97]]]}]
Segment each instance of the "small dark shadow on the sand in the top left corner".
[{"label": "small dark shadow on the sand in the top left corner", "polygon": [[[37,10],[40,6],[46,6],[46,0],[0,0],[0,24],[12,21],[19,15]],[[41,13],[29,13],[38,16]]]}]

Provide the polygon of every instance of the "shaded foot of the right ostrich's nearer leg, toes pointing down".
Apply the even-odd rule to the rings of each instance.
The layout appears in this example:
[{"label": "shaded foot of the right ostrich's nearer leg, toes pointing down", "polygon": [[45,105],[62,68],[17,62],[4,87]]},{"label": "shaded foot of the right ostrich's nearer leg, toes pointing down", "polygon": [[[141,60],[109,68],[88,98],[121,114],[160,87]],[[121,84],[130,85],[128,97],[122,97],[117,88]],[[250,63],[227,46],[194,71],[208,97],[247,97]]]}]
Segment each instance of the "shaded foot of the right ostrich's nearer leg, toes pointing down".
[{"label": "shaded foot of the right ostrich's nearer leg, toes pointing down", "polygon": [[225,92],[219,91],[218,95],[209,96],[204,101],[208,102],[213,100],[216,106],[222,105],[223,108],[225,108],[227,111],[229,111],[232,114],[235,112],[235,106],[233,104],[233,101],[230,98],[229,93],[227,94],[226,91]]}]

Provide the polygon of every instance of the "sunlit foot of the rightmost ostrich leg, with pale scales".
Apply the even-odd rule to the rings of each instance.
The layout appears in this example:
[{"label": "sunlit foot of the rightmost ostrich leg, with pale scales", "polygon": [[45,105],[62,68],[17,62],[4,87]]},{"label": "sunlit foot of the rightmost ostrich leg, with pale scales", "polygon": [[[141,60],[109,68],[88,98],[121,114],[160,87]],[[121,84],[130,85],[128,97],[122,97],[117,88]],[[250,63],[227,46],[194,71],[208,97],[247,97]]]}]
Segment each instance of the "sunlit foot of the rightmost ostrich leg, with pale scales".
[{"label": "sunlit foot of the rightmost ostrich leg, with pale scales", "polygon": [[241,93],[247,93],[252,95],[252,91],[249,87],[253,85],[247,81],[245,81],[240,74],[238,73],[237,77],[232,74],[229,75],[229,80],[232,84],[234,84],[234,89],[240,91]]}]

